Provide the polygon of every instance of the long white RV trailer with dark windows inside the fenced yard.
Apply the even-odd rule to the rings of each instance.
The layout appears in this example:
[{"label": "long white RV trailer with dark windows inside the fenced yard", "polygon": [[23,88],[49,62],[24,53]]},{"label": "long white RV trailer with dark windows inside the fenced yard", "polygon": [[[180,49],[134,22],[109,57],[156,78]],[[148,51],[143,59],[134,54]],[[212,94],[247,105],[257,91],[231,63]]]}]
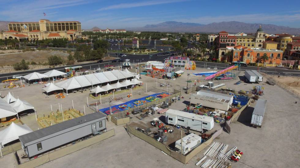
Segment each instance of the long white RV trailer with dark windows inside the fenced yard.
[{"label": "long white RV trailer with dark windows inside the fenced yard", "polygon": [[196,131],[212,130],[214,127],[214,119],[210,116],[202,116],[174,109],[166,111],[165,121],[171,125],[189,127],[191,130]]}]

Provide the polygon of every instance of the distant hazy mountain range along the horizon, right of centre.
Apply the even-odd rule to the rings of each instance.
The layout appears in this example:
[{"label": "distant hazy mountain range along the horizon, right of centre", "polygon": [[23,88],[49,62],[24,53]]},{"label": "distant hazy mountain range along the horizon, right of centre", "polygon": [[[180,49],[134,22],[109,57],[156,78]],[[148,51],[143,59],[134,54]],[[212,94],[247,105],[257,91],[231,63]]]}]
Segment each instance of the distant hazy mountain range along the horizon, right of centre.
[{"label": "distant hazy mountain range along the horizon, right of centre", "polygon": [[207,25],[198,23],[182,23],[182,22],[163,22],[158,24],[146,25],[144,27],[131,27],[126,30],[134,31],[165,31],[165,32],[206,32],[217,33],[220,31],[227,31],[229,33],[254,33],[262,26],[264,32],[268,34],[300,34],[300,28],[291,28],[286,26],[277,26],[274,24],[261,24],[261,23],[243,23],[243,22],[219,22],[210,23]]}]

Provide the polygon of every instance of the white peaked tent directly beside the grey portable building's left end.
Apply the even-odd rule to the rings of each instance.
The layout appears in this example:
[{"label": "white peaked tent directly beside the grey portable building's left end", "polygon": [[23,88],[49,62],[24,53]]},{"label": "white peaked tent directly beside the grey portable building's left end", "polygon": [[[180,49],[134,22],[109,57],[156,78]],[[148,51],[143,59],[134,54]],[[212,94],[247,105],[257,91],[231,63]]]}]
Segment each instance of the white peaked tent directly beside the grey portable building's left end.
[{"label": "white peaked tent directly beside the grey portable building's left end", "polygon": [[32,132],[32,129],[30,129],[26,124],[17,125],[12,122],[9,127],[0,131],[0,144],[3,146],[11,141],[19,139],[19,136],[30,132]]}]

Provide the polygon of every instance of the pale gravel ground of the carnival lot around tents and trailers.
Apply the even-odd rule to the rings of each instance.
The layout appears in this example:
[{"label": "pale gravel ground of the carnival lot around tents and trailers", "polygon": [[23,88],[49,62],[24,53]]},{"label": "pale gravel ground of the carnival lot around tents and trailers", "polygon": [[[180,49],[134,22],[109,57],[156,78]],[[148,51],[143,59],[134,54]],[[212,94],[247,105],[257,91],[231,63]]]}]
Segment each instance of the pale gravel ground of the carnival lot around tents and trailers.
[{"label": "pale gravel ground of the carnival lot around tents and trailers", "polygon": [[[132,70],[133,71],[133,70]],[[201,72],[203,69],[197,69],[194,72]],[[206,70],[207,71],[207,70]],[[166,80],[175,89],[180,89],[181,86],[186,86],[187,76],[186,73],[193,73],[193,71],[185,71],[182,77],[176,80]],[[243,72],[239,74],[243,75]],[[203,79],[202,77],[190,76],[189,80]],[[230,81],[217,81],[225,83],[227,88],[234,90],[250,91],[253,86],[258,85],[250,83],[241,83],[234,85],[239,79]],[[259,85],[264,86],[264,95],[262,99],[267,100],[267,109],[264,115],[264,121],[261,128],[250,127],[250,119],[253,112],[253,105],[250,105],[244,110],[238,121],[232,123],[231,134],[223,132],[215,141],[228,144],[228,148],[237,146],[238,149],[244,152],[241,160],[238,163],[233,163],[233,167],[246,167],[246,168],[272,168],[272,167],[300,167],[299,157],[299,144],[300,144],[300,104],[299,98],[289,94],[287,91],[279,88],[277,85],[271,86],[266,84],[264,79]],[[142,75],[144,88],[141,90],[141,95],[134,94],[132,98],[125,98],[119,101],[126,102],[133,98],[144,97],[151,94],[151,92],[158,92],[156,89],[156,79],[145,77]],[[164,80],[158,80],[163,83]],[[145,84],[148,84],[148,91],[145,92]],[[215,83],[215,84],[216,84]],[[190,85],[192,83],[189,83]],[[194,82],[193,82],[194,84]],[[197,83],[197,84],[201,84]],[[203,84],[207,84],[204,81]],[[159,85],[159,84],[158,84]],[[51,111],[50,105],[52,104],[54,110],[58,109],[58,102],[62,103],[63,109],[68,109],[72,106],[72,100],[76,109],[83,111],[83,106],[86,103],[88,91],[84,93],[69,93],[64,99],[55,99],[54,96],[45,98],[42,94],[41,84],[26,86],[25,88],[16,88],[11,91],[14,96],[21,100],[26,100],[36,107],[38,116],[49,114]],[[158,87],[161,89],[161,87]],[[166,90],[166,88],[164,88]],[[7,88],[0,88],[2,95],[6,95]],[[115,94],[116,96],[117,94]],[[184,98],[171,105],[171,109],[182,110],[189,102],[190,94],[183,93]],[[88,97],[89,103],[95,102],[94,99]],[[298,101],[297,104],[294,102]],[[54,107],[55,106],[55,107]],[[100,105],[108,106],[108,103]],[[100,109],[100,106],[98,108]],[[86,113],[92,113],[92,109],[85,108]],[[140,121],[137,117],[130,115],[131,121]],[[164,115],[155,114],[144,119],[149,122],[152,118],[163,117]],[[32,130],[38,129],[34,113],[22,118]],[[96,143],[87,148],[63,156],[55,161],[51,161],[39,167],[199,167],[195,166],[198,158],[202,158],[206,148],[192,158],[188,164],[182,164],[179,161],[163,154],[160,150],[147,142],[127,134],[125,125],[115,126],[112,122],[107,122],[108,129],[115,129],[115,136],[100,143]],[[104,152],[103,152],[104,151]],[[78,159],[80,158],[80,159]],[[101,161],[99,158],[102,158]],[[13,155],[6,155],[0,158],[0,164],[3,167],[17,167],[13,159]]]}]

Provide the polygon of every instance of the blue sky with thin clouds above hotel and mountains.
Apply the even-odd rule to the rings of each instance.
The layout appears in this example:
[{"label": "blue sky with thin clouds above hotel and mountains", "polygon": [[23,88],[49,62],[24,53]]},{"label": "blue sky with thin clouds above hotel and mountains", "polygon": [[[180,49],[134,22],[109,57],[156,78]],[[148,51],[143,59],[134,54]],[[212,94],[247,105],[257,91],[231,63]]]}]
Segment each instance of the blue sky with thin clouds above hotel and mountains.
[{"label": "blue sky with thin clouds above hotel and mountains", "polygon": [[0,3],[0,20],[80,21],[83,29],[142,27],[165,21],[201,24],[240,21],[300,28],[299,0],[0,0]]}]

